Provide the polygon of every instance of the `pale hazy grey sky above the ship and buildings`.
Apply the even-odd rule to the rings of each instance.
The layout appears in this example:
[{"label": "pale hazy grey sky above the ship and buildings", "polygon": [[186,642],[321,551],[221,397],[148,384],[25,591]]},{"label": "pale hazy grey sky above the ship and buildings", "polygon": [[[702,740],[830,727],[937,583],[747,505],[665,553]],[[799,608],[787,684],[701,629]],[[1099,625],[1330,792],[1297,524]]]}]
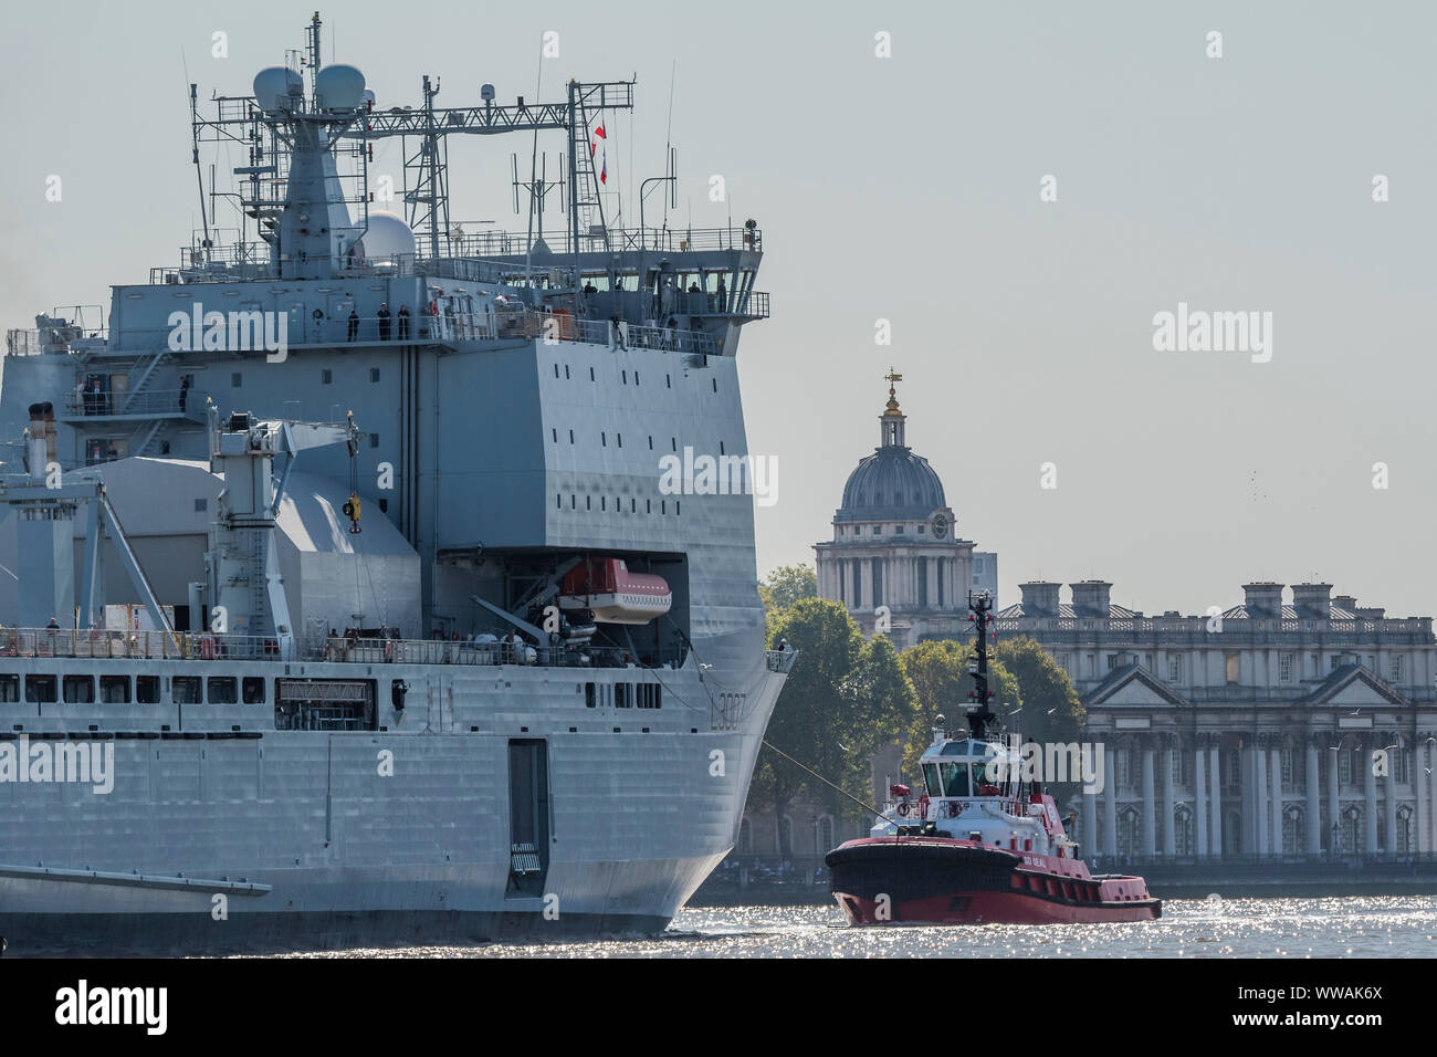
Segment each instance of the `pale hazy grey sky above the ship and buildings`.
[{"label": "pale hazy grey sky above the ship and buildings", "polygon": [[[185,63],[201,98],[249,93],[312,10],[7,9],[4,326],[177,262],[198,219]],[[678,221],[731,211],[764,233],[773,318],[739,355],[750,447],[779,460],[760,571],[831,536],[892,362],[908,441],[958,532],[999,552],[1004,601],[1027,578],[1104,577],[1117,603],[1201,613],[1252,578],[1319,577],[1391,616],[1437,610],[1433,6],[586,0],[322,17],[326,60],[333,43],[381,105],[418,102],[425,72],[441,105],[477,102],[484,81],[533,99],[545,30],[560,47],[545,98],[569,76],[637,73],[637,115],[611,122],[625,188],[662,171],[675,76]],[[211,58],[216,32],[228,58]],[[453,217],[522,227],[509,152],[527,145],[453,150]],[[397,155],[379,148],[376,170],[398,175]],[[711,174],[729,204],[707,200]],[[1378,174],[1390,201],[1372,201]],[[1270,362],[1154,351],[1152,318],[1178,302],[1270,312]],[[1040,488],[1048,462],[1056,489]]]}]

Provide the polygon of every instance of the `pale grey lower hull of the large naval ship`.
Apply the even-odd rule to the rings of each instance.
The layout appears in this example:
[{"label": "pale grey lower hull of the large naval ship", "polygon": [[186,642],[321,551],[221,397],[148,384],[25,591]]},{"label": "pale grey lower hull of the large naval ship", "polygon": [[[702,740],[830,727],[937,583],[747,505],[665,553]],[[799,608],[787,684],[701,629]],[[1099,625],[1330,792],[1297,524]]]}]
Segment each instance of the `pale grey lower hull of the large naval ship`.
[{"label": "pale grey lower hull of the large naval ship", "polygon": [[[703,693],[694,667],[662,673],[674,695],[662,708],[616,709],[588,706],[575,680],[637,669],[388,664],[379,674],[410,682],[411,708],[384,708],[387,729],[354,732],[274,729],[270,706],[0,703],[11,728],[0,752],[24,748],[22,736],[32,751],[112,752],[108,792],[0,781],[0,936],[10,953],[114,956],[661,932],[733,847],[783,683],[746,672],[754,692],[741,715],[697,715],[677,696]],[[520,877],[512,754],[539,743],[545,838],[530,850],[540,869]]]}]

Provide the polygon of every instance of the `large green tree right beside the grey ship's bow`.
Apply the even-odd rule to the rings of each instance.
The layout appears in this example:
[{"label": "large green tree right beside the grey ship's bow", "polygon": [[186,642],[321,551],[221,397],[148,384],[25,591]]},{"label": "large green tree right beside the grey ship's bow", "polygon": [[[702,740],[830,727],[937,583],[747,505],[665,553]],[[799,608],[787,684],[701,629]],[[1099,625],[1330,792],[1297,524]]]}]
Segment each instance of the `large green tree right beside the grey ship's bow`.
[{"label": "large green tree right beside the grey ship's bow", "polygon": [[[799,657],[769,720],[766,739],[867,802],[871,756],[911,722],[912,687],[892,643],[882,636],[865,643],[844,605],[825,598],[799,598],[779,611],[770,646],[780,639]],[[829,785],[764,748],[749,801],[772,807],[785,856],[792,848],[782,836],[782,820],[805,792],[833,814],[856,813]]]}]

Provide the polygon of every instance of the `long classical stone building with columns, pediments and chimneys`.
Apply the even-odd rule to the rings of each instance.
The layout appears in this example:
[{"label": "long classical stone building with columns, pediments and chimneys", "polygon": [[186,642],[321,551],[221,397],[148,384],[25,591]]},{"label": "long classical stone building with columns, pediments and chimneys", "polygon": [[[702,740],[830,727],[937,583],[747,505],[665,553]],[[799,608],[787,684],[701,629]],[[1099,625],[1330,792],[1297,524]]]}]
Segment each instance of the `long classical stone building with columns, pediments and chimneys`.
[{"label": "long classical stone building with columns, pediments and chimneys", "polygon": [[1247,584],[1220,614],[1145,617],[1111,584],[1022,584],[997,633],[1072,677],[1106,781],[1086,854],[1220,860],[1437,850],[1437,640],[1329,584]]}]

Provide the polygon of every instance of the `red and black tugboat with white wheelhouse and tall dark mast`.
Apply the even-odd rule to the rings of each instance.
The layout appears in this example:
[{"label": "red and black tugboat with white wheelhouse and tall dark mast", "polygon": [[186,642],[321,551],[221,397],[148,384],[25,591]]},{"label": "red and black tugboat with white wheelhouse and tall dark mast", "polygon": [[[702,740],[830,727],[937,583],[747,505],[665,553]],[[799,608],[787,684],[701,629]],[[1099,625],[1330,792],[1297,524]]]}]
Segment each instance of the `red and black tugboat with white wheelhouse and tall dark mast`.
[{"label": "red and black tugboat with white wheelhouse and tall dark mast", "polygon": [[917,800],[894,802],[871,836],[825,859],[832,892],[852,925],[1046,925],[1160,918],[1141,877],[1091,874],[1058,805],[1002,741],[989,741],[987,631],[992,600],[969,597],[976,689],[969,729],[950,738],[943,718],[924,751]]}]

